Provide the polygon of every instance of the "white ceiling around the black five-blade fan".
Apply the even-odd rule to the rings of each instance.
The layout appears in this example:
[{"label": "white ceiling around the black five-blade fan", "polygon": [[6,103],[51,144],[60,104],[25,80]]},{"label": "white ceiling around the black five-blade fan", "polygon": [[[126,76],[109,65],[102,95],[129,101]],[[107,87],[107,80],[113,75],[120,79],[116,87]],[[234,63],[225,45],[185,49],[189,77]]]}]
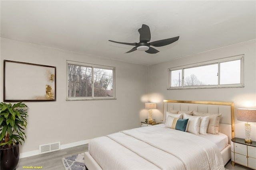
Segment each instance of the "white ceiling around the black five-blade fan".
[{"label": "white ceiling around the black five-blade fan", "polygon": [[[1,37],[151,65],[256,39],[256,1],[3,1]],[[108,40],[139,42],[180,36],[159,53]]]}]

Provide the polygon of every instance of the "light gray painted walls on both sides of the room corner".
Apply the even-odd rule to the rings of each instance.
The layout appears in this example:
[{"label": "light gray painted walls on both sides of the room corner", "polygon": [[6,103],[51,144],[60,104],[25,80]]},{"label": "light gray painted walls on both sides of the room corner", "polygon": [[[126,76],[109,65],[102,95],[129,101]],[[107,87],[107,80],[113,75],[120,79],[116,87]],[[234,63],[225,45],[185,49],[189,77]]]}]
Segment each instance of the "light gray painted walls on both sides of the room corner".
[{"label": "light gray painted walls on both sides of the room corner", "polygon": [[[39,145],[60,141],[63,147],[71,147],[94,137],[139,127],[139,121],[147,118],[144,102],[157,103],[153,119],[160,121],[164,99],[234,102],[235,135],[244,138],[244,122],[236,120],[236,109],[256,107],[255,47],[253,40],[147,67],[1,38],[0,101],[3,60],[56,66],[56,102],[26,102],[27,139],[20,150],[26,156],[37,154]],[[166,90],[168,68],[240,54],[244,54],[244,88]],[[117,100],[66,101],[66,60],[115,66]],[[256,123],[250,124],[252,140],[256,141]]]}]

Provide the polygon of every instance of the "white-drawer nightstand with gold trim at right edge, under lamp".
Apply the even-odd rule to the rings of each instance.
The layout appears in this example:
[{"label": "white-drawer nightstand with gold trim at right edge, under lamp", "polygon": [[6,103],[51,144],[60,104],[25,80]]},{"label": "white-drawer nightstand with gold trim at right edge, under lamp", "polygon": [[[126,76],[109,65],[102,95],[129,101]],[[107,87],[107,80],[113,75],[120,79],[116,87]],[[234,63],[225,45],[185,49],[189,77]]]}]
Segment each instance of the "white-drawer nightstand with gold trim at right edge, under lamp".
[{"label": "white-drawer nightstand with gold trim at right edge, under lamp", "polygon": [[231,139],[230,145],[232,166],[237,163],[256,169],[256,141],[245,143],[244,139],[235,137]]}]

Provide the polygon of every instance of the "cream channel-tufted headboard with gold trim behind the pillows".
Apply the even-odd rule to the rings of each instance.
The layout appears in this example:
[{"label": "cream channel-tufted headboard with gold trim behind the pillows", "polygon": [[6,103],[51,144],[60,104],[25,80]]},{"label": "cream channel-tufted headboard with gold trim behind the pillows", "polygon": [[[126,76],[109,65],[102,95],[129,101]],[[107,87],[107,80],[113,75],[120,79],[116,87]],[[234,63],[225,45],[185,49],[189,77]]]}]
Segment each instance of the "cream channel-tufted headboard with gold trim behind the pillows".
[{"label": "cream channel-tufted headboard with gold trim behind the pillows", "polygon": [[198,111],[206,113],[220,113],[220,129],[221,133],[228,136],[228,143],[230,139],[234,138],[234,102],[200,102],[200,101],[181,101],[181,100],[164,100],[164,122],[165,113],[169,109],[179,111]]}]

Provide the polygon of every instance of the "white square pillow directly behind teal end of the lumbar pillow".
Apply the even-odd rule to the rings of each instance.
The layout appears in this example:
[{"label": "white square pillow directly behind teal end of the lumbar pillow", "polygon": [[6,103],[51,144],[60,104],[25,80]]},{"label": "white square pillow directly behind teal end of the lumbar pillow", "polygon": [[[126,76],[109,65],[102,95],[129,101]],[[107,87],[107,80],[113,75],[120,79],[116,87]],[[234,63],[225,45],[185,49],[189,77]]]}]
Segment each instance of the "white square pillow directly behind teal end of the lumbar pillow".
[{"label": "white square pillow directly behind teal end of the lumbar pillow", "polygon": [[188,119],[187,131],[199,135],[200,116],[192,116],[183,113],[183,119]]}]

